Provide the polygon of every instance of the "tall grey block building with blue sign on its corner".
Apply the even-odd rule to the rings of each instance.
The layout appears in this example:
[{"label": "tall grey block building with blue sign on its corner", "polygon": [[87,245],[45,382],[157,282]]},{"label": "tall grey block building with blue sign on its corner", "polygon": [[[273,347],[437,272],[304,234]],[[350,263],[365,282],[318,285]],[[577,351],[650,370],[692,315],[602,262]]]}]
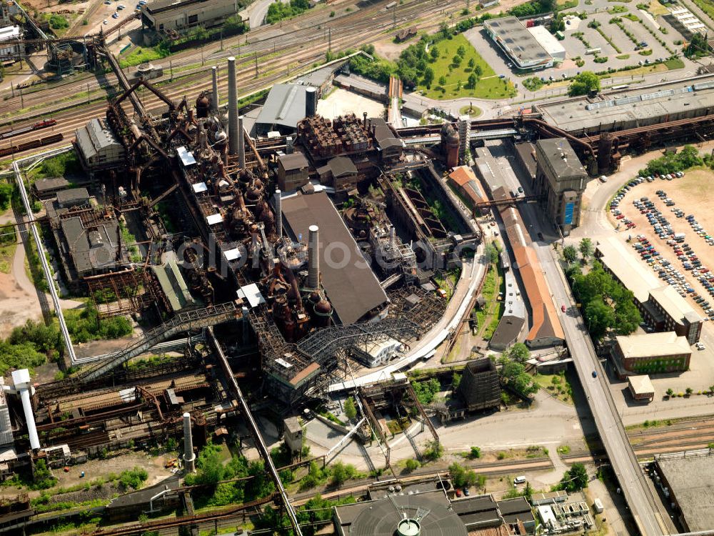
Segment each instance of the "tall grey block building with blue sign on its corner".
[{"label": "tall grey block building with blue sign on its corner", "polygon": [[535,144],[534,190],[543,198],[545,214],[563,234],[580,224],[580,204],[588,173],[565,138]]}]

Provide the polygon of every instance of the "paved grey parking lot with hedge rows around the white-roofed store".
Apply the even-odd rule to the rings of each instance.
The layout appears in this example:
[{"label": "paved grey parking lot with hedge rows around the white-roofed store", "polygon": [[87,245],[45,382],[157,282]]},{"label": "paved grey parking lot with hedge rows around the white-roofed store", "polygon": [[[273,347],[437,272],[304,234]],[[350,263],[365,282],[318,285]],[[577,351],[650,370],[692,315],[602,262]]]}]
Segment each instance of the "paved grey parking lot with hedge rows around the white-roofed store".
[{"label": "paved grey parking lot with hedge rows around the white-roofed store", "polygon": [[[622,9],[626,11],[621,11]],[[488,38],[486,31],[481,27],[468,30],[464,35],[478,50],[479,54],[483,56],[483,59],[493,67],[496,74],[504,74],[515,83],[529,76],[558,80],[575,76],[580,71],[604,71],[608,68],[620,69],[625,66],[638,66],[640,62],[643,66],[650,64],[650,69],[647,69],[648,73],[662,71],[663,78],[665,78],[668,66],[665,64],[651,66],[651,64],[658,59],[668,59],[672,55],[672,51],[680,51],[681,46],[675,45],[674,41],[685,39],[663,16],[651,16],[645,11],[637,9],[634,3],[624,4],[608,2],[607,0],[593,0],[590,4],[585,4],[581,0],[577,7],[568,9],[568,13],[571,14],[583,12],[587,14],[585,19],[579,19],[577,16],[570,16],[565,19],[565,31],[563,31],[565,39],[560,41],[566,51],[566,59],[563,64],[532,73],[517,74],[512,71],[508,67],[511,64],[511,59]],[[630,20],[627,18],[628,16],[637,17],[641,22]],[[623,28],[633,35],[634,41],[617,24],[610,22],[614,17],[620,19]],[[598,29],[588,26],[593,21],[600,24],[599,29],[602,34],[608,36],[612,44],[608,43]],[[660,26],[666,29],[667,34],[659,30]],[[648,29],[654,35],[650,34]],[[582,33],[582,36],[578,37],[579,33]],[[665,45],[660,44],[658,39],[664,41]],[[645,44],[645,46],[640,46],[642,44]],[[599,55],[607,58],[604,63],[595,62],[595,55],[586,54],[588,49],[598,48],[600,49]],[[640,54],[640,52],[643,54]],[[578,66],[575,62],[576,58],[584,61],[584,64]],[[642,71],[624,71],[621,79],[615,83],[625,84],[628,81],[627,79],[636,79],[645,74],[643,71],[645,69],[642,69]]]}]

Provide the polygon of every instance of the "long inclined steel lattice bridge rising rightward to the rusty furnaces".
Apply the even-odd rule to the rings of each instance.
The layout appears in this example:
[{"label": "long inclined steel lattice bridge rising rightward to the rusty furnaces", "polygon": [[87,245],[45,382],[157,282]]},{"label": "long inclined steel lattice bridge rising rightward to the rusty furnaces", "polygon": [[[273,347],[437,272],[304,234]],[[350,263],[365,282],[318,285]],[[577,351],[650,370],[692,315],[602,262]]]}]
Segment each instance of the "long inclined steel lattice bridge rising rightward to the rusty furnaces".
[{"label": "long inclined steel lattice bridge rising rightward to the rusty furnaces", "polygon": [[111,370],[126,363],[129,359],[143,354],[146,350],[154,347],[159,342],[169,339],[169,337],[177,333],[220,324],[221,322],[237,318],[239,315],[240,312],[232,302],[206,307],[205,309],[181,312],[169,320],[169,322],[164,322],[164,324],[146,332],[143,337],[132,341],[124,347],[124,349],[121,349],[109,357],[109,359],[106,359],[106,361],[81,372],[77,379],[81,382],[91,382],[93,379],[104,376],[104,374],[111,372]]}]

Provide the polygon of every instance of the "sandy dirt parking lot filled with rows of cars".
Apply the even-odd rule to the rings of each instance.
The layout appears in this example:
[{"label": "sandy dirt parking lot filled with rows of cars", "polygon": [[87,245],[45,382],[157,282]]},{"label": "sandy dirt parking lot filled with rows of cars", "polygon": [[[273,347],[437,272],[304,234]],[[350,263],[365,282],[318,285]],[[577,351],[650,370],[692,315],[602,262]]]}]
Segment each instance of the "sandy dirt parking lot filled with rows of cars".
[{"label": "sandy dirt parking lot filled with rows of cars", "polygon": [[[707,238],[708,228],[714,225],[710,213],[714,193],[707,189],[710,179],[711,172],[695,170],[681,178],[642,182],[625,192],[619,206],[611,209],[610,218],[620,229],[623,222],[635,224],[620,234],[623,239],[632,238],[633,253],[638,249],[638,257],[648,269],[672,284],[700,314],[714,318],[714,310],[708,307],[714,304],[714,274],[710,271],[714,239]],[[647,200],[640,201],[643,197]]]}]

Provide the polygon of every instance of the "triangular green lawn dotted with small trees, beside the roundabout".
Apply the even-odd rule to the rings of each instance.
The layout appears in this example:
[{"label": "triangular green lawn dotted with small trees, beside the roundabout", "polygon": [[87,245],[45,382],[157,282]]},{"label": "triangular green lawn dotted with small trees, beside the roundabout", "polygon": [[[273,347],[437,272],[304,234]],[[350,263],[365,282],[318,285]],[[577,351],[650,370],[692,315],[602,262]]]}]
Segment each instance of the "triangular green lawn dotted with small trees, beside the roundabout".
[{"label": "triangular green lawn dotted with small trees, beside the roundabout", "polygon": [[[456,67],[451,64],[451,60],[453,56],[456,56],[456,50],[459,46],[466,48],[466,56],[461,61],[461,65]],[[439,57],[429,64],[434,71],[434,81],[431,83],[431,89],[428,89],[423,84],[423,81],[418,86],[418,89],[421,89],[431,99],[455,99],[463,96],[473,96],[477,99],[503,99],[516,95],[516,89],[513,84],[505,79],[498,78],[491,66],[483,60],[463,35],[458,34],[453,36],[453,39],[439,41],[436,44],[436,48],[439,51]],[[468,75],[471,74],[471,69],[468,68],[468,61],[472,58],[476,61],[476,65],[481,66],[482,69],[481,79],[473,89],[466,87]],[[443,88],[438,84],[441,76],[446,76],[446,84]],[[461,89],[458,89],[459,82],[461,82]]]}]

